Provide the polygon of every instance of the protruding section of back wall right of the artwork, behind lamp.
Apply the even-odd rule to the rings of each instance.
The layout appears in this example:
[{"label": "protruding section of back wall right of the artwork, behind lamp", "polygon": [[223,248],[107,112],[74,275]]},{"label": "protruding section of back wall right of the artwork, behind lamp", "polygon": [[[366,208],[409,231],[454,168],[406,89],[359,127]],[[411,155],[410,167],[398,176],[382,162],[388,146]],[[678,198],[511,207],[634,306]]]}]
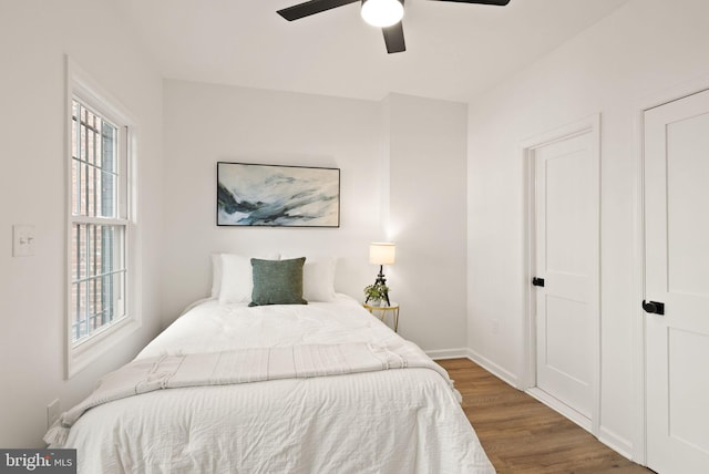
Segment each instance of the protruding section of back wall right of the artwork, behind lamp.
[{"label": "protruding section of back wall right of the artwork, behind lamp", "polygon": [[392,94],[389,133],[388,269],[402,305],[401,334],[432,357],[465,353],[465,104]]}]

